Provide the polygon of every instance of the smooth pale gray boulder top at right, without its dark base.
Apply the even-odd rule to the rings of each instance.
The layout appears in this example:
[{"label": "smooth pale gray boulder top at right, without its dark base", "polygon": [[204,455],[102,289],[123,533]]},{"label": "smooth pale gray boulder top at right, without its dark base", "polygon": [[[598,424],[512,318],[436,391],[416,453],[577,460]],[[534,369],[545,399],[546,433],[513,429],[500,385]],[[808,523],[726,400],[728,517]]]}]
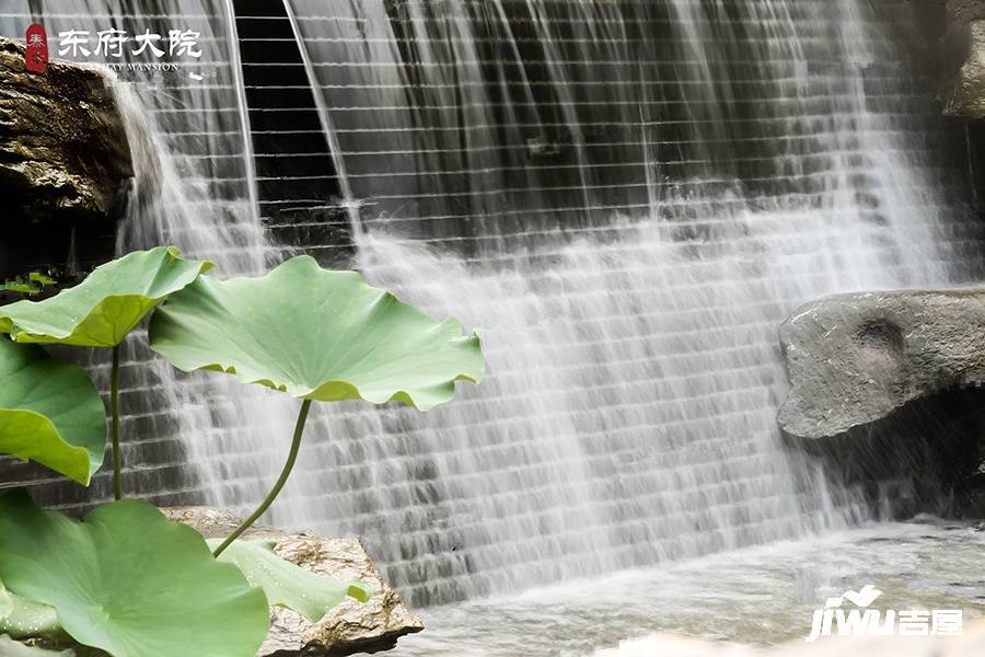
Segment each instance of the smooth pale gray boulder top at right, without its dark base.
[{"label": "smooth pale gray boulder top at right, without its dark base", "polygon": [[837,295],[780,327],[791,390],[780,427],[836,436],[985,379],[985,290]]}]

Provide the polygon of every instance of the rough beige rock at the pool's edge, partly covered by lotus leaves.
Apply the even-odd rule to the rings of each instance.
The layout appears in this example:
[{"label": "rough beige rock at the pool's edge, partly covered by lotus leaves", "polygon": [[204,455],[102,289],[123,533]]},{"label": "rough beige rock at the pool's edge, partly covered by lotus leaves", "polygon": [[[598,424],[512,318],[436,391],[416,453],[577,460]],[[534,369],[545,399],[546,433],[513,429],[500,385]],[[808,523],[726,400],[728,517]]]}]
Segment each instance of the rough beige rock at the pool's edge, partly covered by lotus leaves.
[{"label": "rough beige rock at the pool's edge, partly covered by lotus leaves", "polygon": [[[194,527],[206,538],[229,535],[241,521],[224,509],[210,507],[181,507],[162,511],[172,520]],[[385,650],[394,647],[401,636],[424,630],[420,619],[383,580],[358,539],[287,534],[266,527],[254,527],[245,535],[276,541],[275,552],[302,568],[338,579],[372,581],[380,591],[366,603],[346,600],[318,623],[310,623],[289,609],[273,608],[270,633],[259,655],[289,657],[303,654],[315,657]]]}]

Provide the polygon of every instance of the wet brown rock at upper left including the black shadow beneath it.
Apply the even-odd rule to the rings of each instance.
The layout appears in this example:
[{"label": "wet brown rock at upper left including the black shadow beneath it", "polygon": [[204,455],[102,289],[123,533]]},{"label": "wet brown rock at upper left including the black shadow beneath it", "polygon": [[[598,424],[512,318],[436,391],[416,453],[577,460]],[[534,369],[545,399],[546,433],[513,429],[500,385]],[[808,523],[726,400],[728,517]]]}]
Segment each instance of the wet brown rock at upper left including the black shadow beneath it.
[{"label": "wet brown rock at upper left including the black shadow beneath it", "polygon": [[70,257],[90,266],[113,256],[134,172],[106,82],[65,61],[32,73],[24,46],[0,38],[0,281]]}]

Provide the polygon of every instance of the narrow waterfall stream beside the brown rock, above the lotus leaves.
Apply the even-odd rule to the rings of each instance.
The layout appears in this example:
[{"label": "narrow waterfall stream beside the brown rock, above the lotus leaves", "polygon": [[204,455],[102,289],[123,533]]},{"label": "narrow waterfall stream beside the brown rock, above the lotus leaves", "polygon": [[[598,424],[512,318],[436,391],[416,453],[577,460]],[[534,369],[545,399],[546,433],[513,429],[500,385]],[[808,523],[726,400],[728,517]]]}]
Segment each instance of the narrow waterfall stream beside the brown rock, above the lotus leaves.
[{"label": "narrow waterfall stream beside the brown rock, above the lotus leaves", "polygon": [[[54,58],[83,65],[113,64],[114,92],[126,123],[136,174],[129,215],[121,222],[119,249],[174,243],[190,256],[213,260],[229,274],[262,272],[270,246],[256,216],[253,149],[239,43],[228,2],[218,0],[32,0],[21,12],[4,14],[4,34],[23,38],[30,21],[49,35]],[[31,8],[31,12],[27,8]],[[129,71],[130,65],[158,64],[134,55],[132,41],[120,57],[94,53],[97,33],[116,28],[132,38],[144,31],[198,33],[199,58],[175,59],[170,78]],[[58,33],[85,33],[89,55],[59,54]],[[171,59],[166,60],[171,64]],[[213,74],[198,81],[190,73]]]}]

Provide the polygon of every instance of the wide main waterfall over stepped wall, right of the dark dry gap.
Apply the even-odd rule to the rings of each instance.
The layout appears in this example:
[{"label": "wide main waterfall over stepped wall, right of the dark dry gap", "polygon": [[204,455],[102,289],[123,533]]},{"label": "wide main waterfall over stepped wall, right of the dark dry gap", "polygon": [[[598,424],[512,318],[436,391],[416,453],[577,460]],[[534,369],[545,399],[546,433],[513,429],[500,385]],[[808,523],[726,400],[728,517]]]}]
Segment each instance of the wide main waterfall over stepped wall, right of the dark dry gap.
[{"label": "wide main waterfall over stepped wall, right of the dark dry gap", "polygon": [[[362,535],[426,603],[866,517],[779,441],[776,327],[962,280],[978,238],[873,11],[290,1],[357,266],[483,327],[490,377],[427,415],[320,408],[271,520]],[[253,435],[204,443],[223,504],[282,451]]]}]

